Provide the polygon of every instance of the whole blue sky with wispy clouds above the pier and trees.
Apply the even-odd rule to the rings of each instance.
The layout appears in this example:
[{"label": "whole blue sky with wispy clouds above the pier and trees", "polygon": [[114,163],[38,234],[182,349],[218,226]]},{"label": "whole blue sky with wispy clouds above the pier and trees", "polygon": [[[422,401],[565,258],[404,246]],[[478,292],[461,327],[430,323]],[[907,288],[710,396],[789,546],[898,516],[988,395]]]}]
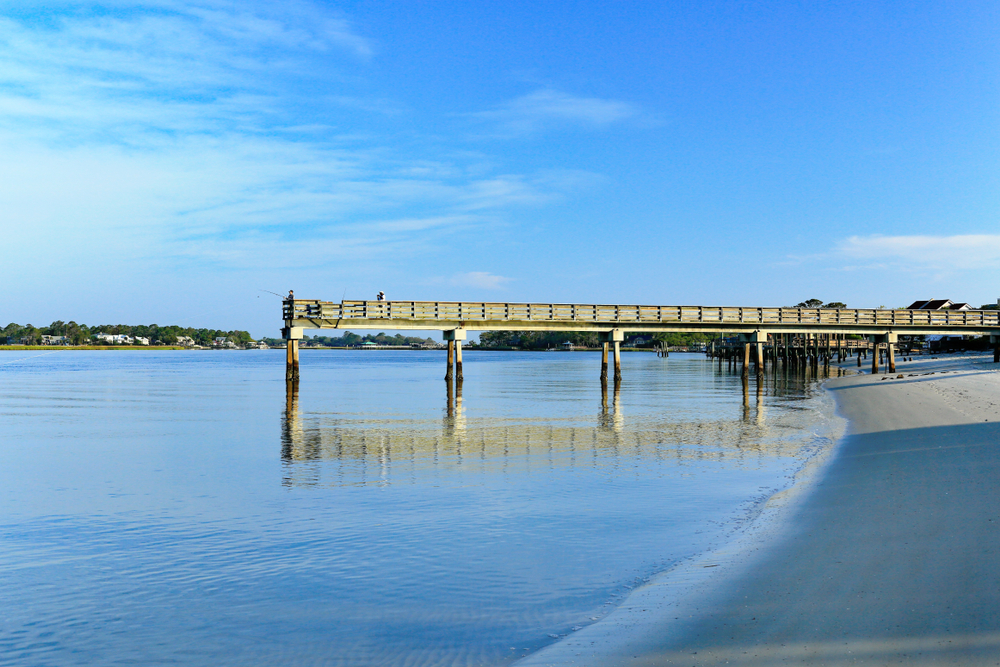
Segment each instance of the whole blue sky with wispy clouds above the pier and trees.
[{"label": "whole blue sky with wispy clouds above the pier and trees", "polygon": [[0,323],[1000,297],[1000,5],[0,5]]}]

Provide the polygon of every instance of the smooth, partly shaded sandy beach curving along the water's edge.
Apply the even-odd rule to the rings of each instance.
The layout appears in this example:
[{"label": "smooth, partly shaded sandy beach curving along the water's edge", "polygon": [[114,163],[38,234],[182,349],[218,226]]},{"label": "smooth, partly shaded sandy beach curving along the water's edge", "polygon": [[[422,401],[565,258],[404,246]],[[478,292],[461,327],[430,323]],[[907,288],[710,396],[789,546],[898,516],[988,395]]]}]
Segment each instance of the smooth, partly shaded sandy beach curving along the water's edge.
[{"label": "smooth, partly shaded sandy beach curving along the water's edge", "polygon": [[724,550],[518,664],[1000,665],[991,362],[917,357],[831,379],[846,432],[811,474]]}]

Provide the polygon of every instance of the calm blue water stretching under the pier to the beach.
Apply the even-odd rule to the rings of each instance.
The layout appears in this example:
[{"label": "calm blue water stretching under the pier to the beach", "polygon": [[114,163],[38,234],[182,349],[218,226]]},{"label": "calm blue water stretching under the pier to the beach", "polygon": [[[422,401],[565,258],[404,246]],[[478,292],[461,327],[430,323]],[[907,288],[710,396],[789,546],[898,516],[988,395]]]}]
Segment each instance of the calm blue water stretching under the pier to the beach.
[{"label": "calm blue water stretching under the pier to the beach", "polygon": [[825,444],[701,355],[283,355],[0,353],[0,662],[507,664]]}]

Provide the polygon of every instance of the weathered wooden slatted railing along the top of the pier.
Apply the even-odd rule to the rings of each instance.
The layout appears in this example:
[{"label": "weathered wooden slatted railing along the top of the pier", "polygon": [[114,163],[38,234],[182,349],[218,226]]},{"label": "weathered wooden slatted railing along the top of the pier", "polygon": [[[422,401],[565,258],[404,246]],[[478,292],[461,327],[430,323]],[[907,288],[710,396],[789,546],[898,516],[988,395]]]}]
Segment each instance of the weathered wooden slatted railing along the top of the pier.
[{"label": "weathered wooden slatted railing along the top of the pier", "polygon": [[[1000,329],[996,310],[880,310],[859,308],[740,308],[729,306],[640,306],[563,303],[499,303],[467,301],[286,301],[286,322],[382,321],[388,326],[421,322],[434,328],[463,322],[477,329],[488,323],[537,322],[590,324],[792,325],[836,327],[947,327]],[[329,325],[326,325],[329,326]],[[340,328],[340,324],[336,325]],[[713,327],[714,328],[714,327]]]}]

